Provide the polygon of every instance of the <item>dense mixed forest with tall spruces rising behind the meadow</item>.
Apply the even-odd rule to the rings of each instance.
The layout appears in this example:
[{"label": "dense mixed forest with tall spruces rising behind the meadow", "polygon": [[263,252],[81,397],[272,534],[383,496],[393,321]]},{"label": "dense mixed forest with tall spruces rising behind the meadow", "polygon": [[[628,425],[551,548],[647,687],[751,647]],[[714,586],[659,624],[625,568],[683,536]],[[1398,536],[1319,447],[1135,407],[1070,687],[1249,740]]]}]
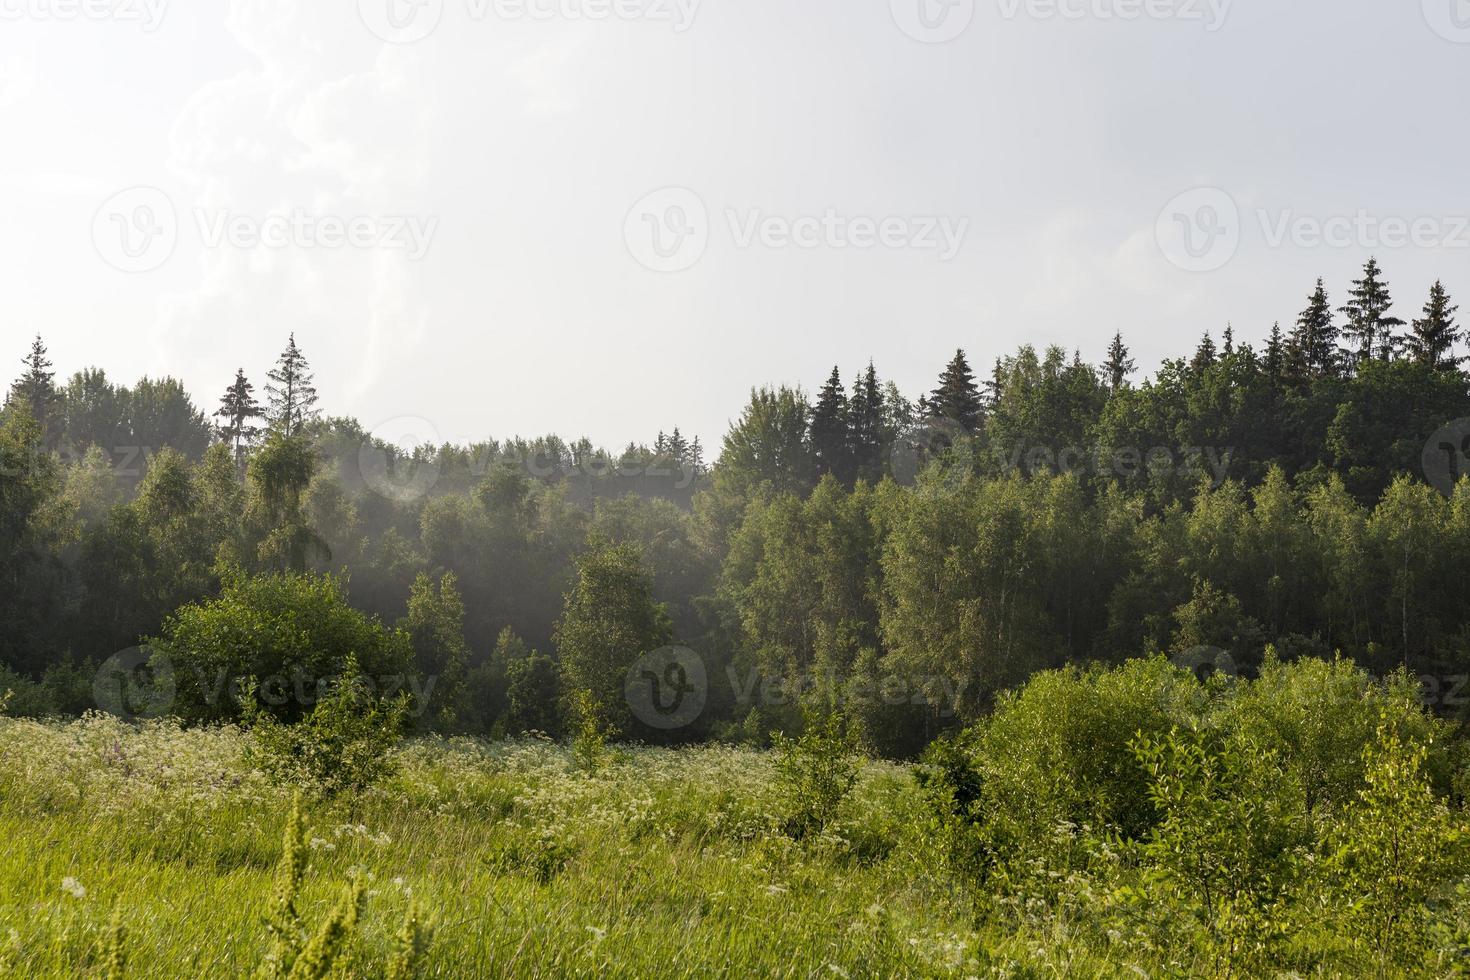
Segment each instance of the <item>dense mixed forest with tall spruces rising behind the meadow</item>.
[{"label": "dense mixed forest with tall spruces rising behind the meadow", "polygon": [[[1205,332],[1138,382],[1120,334],[983,381],[960,350],[914,400],[835,367],[814,397],[754,389],[713,466],[678,426],[403,451],[320,410],[294,336],[263,398],[240,370],[209,416],[171,379],[59,383],[37,338],[0,413],[0,686],[82,710],[119,649],[188,657],[222,610],[340,604],[437,679],[425,717],[453,730],[556,730],[576,693],[638,738],[760,739],[814,704],[906,754],[1036,670],[1195,648],[1448,689],[1470,664],[1455,311],[1435,284],[1405,323],[1370,260],[1345,306],[1319,281],[1289,331]],[[623,693],[670,644],[709,688],[672,736]]]}]

